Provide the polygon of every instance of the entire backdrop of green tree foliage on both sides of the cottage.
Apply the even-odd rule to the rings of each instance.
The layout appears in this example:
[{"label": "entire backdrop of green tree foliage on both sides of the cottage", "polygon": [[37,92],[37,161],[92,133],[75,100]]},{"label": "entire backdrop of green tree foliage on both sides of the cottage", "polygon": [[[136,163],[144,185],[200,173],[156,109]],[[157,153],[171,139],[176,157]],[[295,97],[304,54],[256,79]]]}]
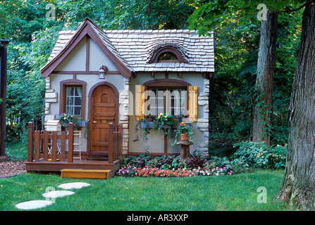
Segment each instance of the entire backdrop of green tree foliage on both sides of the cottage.
[{"label": "entire backdrop of green tree foliage on both sides of the cottage", "polygon": [[[259,1],[274,10],[286,9],[280,2],[276,5],[270,2]],[[298,1],[287,2],[288,9],[298,5]],[[8,122],[21,123],[21,127],[25,127],[26,122],[42,117],[44,78],[39,69],[47,62],[58,32],[76,30],[82,20],[89,17],[104,30],[190,27],[197,29],[199,34],[215,30],[212,137],[247,139],[259,46],[257,3],[228,0],[0,0],[0,38],[11,40],[8,45]],[[45,18],[47,4],[56,6],[56,20]],[[295,74],[300,20],[299,11],[279,16],[271,116],[271,138],[276,143],[285,143],[287,139],[286,116]]]}]

